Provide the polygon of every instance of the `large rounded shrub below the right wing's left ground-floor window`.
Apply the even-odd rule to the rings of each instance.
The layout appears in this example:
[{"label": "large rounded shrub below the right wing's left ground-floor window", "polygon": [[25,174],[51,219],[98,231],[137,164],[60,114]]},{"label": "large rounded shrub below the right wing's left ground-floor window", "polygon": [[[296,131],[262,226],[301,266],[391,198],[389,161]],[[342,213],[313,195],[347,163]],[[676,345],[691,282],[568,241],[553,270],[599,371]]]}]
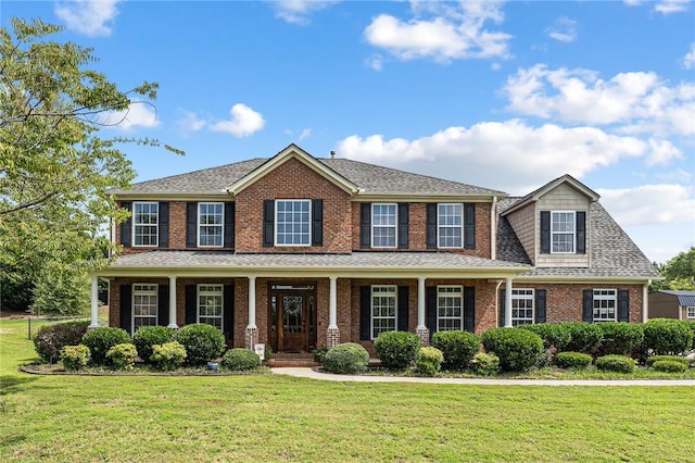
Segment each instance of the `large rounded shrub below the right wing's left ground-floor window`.
[{"label": "large rounded shrub below the right wing's left ground-floor window", "polygon": [[543,340],[535,333],[517,328],[492,328],[482,334],[486,352],[500,358],[503,372],[523,372],[543,354]]}]

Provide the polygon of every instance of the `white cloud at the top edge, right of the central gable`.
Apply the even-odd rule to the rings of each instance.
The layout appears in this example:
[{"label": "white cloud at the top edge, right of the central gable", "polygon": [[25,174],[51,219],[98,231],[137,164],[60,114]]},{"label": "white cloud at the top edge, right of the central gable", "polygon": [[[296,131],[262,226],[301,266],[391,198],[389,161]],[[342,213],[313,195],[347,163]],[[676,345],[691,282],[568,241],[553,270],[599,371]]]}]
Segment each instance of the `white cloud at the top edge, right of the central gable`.
[{"label": "white cloud at the top edge, right of the central gable", "polygon": [[367,41],[401,60],[431,58],[437,62],[471,58],[509,58],[508,34],[489,32],[485,23],[501,23],[500,2],[412,2],[415,17],[390,14],[372,18]]}]

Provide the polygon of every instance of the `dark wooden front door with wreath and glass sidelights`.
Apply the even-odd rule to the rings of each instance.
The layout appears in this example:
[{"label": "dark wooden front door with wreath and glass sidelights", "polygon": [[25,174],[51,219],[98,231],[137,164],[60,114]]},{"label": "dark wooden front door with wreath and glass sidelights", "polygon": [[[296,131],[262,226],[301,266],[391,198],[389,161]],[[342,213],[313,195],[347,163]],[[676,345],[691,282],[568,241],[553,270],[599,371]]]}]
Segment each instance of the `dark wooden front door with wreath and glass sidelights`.
[{"label": "dark wooden front door with wreath and glass sidelights", "polygon": [[276,352],[308,352],[316,343],[314,285],[271,285],[268,339]]}]

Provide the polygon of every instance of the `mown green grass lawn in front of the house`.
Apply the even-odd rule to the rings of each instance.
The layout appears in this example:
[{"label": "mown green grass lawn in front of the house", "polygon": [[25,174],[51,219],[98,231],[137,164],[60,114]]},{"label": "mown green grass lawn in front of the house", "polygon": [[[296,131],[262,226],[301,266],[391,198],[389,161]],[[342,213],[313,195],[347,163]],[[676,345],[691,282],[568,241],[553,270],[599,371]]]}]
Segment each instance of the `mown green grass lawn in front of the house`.
[{"label": "mown green grass lawn in front of the house", "polygon": [[[1,461],[687,461],[690,387],[39,376],[0,323]],[[688,418],[690,416],[690,418]]]}]

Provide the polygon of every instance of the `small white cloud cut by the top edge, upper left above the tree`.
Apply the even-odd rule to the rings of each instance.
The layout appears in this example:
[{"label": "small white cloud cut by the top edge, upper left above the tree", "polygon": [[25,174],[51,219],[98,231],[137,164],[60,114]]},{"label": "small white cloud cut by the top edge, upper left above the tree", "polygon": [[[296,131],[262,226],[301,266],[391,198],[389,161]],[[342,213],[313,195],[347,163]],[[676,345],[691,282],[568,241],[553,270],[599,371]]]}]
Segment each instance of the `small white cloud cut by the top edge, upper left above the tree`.
[{"label": "small white cloud cut by the top edge, upper left above the tree", "polygon": [[111,35],[121,0],[72,0],[55,4],[55,15],[68,29],[90,37]]}]

